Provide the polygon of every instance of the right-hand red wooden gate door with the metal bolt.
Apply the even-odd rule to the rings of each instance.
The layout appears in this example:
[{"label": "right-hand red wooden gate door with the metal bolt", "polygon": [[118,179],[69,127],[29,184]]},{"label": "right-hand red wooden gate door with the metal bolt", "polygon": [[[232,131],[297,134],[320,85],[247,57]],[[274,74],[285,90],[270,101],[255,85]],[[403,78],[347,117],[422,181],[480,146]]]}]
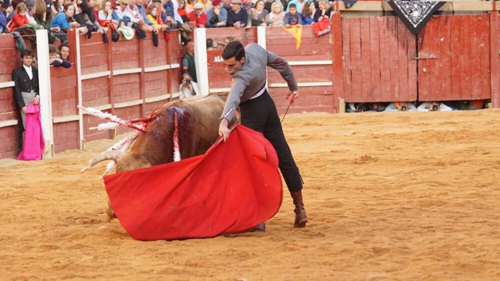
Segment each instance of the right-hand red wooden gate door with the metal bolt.
[{"label": "right-hand red wooden gate door with the metal bolt", "polygon": [[441,15],[418,34],[418,100],[491,98],[490,16]]}]

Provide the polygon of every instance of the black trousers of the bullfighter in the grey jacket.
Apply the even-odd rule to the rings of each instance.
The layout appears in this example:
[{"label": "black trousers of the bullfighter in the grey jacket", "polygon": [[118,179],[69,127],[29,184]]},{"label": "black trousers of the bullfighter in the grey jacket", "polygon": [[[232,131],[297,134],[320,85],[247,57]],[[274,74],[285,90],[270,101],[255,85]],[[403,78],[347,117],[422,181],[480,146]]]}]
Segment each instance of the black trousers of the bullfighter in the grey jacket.
[{"label": "black trousers of the bullfighter in the grey jacket", "polygon": [[239,104],[239,109],[241,125],[262,133],[276,150],[279,170],[288,190],[290,192],[301,190],[302,178],[284,138],[276,106],[267,90],[259,97]]}]

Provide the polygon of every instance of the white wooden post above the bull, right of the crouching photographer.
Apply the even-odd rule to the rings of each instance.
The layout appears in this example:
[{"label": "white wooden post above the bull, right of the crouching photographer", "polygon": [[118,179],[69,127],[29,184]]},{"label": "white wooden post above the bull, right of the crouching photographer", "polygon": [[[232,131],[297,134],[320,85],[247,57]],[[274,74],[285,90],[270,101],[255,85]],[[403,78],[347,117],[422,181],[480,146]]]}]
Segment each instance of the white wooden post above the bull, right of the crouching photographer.
[{"label": "white wooden post above the bull, right of the crouching photographer", "polygon": [[201,95],[208,94],[208,63],[206,60],[206,28],[194,28],[194,64],[198,90]]}]

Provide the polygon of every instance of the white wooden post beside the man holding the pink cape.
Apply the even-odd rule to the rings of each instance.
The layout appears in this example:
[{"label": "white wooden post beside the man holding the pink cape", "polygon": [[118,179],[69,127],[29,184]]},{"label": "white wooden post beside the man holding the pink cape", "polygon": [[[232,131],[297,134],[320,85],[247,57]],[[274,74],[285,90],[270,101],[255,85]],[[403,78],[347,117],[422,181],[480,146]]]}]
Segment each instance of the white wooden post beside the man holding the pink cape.
[{"label": "white wooden post beside the man holding the pink cape", "polygon": [[50,65],[48,63],[47,30],[36,30],[36,53],[38,60],[38,81],[40,85],[41,128],[45,140],[44,158],[54,155],[54,134],[52,128],[52,93],[50,90]]}]

